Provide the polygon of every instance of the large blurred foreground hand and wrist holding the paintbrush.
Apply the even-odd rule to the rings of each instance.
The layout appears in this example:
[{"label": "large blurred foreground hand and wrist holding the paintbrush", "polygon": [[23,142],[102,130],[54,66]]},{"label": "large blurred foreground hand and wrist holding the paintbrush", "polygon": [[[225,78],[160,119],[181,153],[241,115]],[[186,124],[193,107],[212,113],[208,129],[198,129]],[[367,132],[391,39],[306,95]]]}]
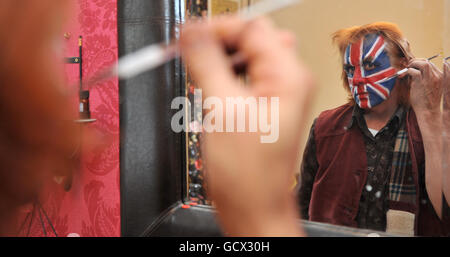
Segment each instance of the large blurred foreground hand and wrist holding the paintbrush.
[{"label": "large blurred foreground hand and wrist holding the paintbrush", "polygon": [[[261,143],[261,135],[267,134],[262,132],[204,134],[208,194],[230,235],[303,233],[291,187],[313,82],[294,47],[294,37],[267,19],[246,23],[228,17],[184,27],[183,57],[204,97],[218,97],[224,109],[226,97],[268,97],[268,110],[270,97],[279,97],[279,138],[274,143]],[[248,86],[234,74],[226,48],[246,60]]]}]

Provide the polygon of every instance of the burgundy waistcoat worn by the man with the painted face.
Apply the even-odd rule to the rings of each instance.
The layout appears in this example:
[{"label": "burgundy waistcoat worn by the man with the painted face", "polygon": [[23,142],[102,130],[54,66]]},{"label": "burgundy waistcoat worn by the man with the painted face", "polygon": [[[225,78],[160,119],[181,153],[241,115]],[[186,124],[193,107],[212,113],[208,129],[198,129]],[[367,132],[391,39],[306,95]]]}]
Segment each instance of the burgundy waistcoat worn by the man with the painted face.
[{"label": "burgundy waistcoat worn by the man with the painted face", "polygon": [[[367,179],[366,149],[358,126],[348,129],[353,106],[346,104],[324,111],[314,128],[316,156],[319,164],[309,205],[312,221],[356,227],[359,201]],[[436,215],[425,190],[425,157],[416,115],[407,112],[406,130],[416,184],[416,206],[390,202],[390,209],[413,211],[415,234],[449,235],[450,222]]]}]

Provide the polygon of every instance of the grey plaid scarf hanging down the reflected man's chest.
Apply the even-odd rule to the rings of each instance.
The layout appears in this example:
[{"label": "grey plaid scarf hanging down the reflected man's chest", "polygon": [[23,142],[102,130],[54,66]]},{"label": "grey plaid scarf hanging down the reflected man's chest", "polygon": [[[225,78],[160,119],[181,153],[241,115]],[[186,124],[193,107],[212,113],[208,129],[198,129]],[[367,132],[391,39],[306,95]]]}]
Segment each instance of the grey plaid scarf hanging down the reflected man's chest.
[{"label": "grey plaid scarf hanging down the reflected man's chest", "polygon": [[403,121],[395,139],[389,180],[389,200],[416,204],[416,186],[412,174],[412,162],[409,154],[408,133]]}]

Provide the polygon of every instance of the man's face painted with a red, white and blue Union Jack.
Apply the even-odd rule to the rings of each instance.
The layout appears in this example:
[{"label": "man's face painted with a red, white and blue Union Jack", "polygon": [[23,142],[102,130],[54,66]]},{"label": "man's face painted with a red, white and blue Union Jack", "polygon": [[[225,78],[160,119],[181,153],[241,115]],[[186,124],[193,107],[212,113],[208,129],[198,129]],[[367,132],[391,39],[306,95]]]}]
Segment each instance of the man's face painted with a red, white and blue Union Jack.
[{"label": "man's face painted with a red, white and blue Union Jack", "polygon": [[373,108],[386,100],[394,88],[397,70],[392,67],[386,42],[378,34],[367,34],[349,44],[344,55],[350,92],[359,107]]}]

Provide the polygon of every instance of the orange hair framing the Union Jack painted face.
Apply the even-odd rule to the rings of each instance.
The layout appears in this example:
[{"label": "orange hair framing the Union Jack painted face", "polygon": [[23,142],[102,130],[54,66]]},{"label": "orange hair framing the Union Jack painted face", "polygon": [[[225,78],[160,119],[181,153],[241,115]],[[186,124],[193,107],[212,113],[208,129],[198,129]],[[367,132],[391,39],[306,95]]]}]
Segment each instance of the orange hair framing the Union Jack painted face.
[{"label": "orange hair framing the Union Jack painted face", "polygon": [[[382,35],[388,43],[386,49],[394,67],[403,69],[406,67],[408,61],[414,58],[408,40],[403,37],[403,33],[396,24],[389,22],[375,22],[363,26],[341,29],[332,34],[333,43],[339,49],[342,62],[344,60],[345,49],[349,44],[353,44],[363,36],[372,33]],[[341,77],[343,86],[349,93],[349,102],[354,104],[355,101],[350,93],[347,74],[343,68]],[[403,86],[400,86],[398,89],[399,103],[409,105],[409,83],[407,82],[407,79],[401,79],[397,83],[403,84]]]}]

